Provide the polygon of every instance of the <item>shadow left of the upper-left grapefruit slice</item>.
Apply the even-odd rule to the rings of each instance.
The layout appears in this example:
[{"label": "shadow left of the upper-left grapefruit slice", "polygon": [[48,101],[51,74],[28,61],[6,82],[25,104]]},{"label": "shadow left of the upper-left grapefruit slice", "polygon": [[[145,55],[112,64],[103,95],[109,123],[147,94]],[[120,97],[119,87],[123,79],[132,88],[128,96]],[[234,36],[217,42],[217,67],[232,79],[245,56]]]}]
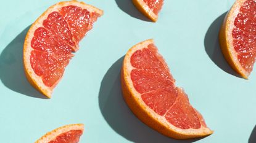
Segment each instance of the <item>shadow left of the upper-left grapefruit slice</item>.
[{"label": "shadow left of the upper-left grapefruit slice", "polygon": [[46,99],[28,83],[23,69],[23,43],[30,26],[12,40],[0,55],[0,79],[10,90],[34,98]]}]

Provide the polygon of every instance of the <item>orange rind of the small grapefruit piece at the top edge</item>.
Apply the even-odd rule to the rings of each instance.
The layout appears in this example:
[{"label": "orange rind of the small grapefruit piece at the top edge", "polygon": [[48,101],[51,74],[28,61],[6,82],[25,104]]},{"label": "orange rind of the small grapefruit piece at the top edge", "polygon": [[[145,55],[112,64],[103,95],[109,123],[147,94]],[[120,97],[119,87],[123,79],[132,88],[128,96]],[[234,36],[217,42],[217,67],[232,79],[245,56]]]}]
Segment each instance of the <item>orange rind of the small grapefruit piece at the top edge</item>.
[{"label": "orange rind of the small grapefruit piece at the top edge", "polygon": [[146,2],[144,2],[143,0],[133,0],[133,4],[147,18],[151,19],[154,22],[157,21],[158,16],[154,14],[153,10],[151,10],[149,6],[147,6]]}]

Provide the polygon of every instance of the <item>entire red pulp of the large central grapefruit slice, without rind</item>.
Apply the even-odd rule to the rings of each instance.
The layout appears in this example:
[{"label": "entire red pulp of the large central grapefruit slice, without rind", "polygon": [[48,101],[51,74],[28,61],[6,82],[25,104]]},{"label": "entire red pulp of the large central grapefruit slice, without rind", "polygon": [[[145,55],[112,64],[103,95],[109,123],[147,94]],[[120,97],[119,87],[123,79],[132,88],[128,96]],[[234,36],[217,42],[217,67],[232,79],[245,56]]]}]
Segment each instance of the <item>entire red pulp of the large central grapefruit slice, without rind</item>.
[{"label": "entire red pulp of the large central grapefruit slice, without rind", "polygon": [[154,44],[134,52],[131,56],[131,65],[136,68],[131,71],[134,88],[139,93],[146,92],[141,96],[147,106],[159,115],[166,114],[168,122],[178,128],[200,128],[196,112],[190,106],[185,93],[175,88],[170,72]]}]

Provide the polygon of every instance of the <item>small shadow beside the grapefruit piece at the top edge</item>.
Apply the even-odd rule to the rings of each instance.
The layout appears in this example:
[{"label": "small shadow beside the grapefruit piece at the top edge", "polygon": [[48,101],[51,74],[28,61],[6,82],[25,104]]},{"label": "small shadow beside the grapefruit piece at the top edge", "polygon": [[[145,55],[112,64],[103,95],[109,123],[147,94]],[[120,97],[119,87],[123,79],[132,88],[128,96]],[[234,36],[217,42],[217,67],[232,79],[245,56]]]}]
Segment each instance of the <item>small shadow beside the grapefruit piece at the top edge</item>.
[{"label": "small shadow beside the grapefruit piece at the top edge", "polygon": [[151,20],[149,20],[149,18],[142,15],[138,9],[136,9],[131,0],[115,0],[115,2],[117,3],[117,6],[121,10],[123,10],[123,12],[130,15],[131,17],[137,18],[139,20],[152,22]]}]

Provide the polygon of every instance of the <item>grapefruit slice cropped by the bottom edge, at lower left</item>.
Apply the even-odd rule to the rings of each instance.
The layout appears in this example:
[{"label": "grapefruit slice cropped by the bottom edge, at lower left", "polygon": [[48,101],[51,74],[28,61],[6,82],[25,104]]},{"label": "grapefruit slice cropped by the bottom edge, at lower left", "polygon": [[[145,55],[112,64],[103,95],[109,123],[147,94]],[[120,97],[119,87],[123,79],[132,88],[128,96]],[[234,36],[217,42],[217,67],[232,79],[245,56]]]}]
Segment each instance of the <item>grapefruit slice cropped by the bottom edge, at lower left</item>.
[{"label": "grapefruit slice cropped by the bottom edge, at lower left", "polygon": [[78,143],[83,129],[83,124],[65,125],[44,134],[35,143]]}]

